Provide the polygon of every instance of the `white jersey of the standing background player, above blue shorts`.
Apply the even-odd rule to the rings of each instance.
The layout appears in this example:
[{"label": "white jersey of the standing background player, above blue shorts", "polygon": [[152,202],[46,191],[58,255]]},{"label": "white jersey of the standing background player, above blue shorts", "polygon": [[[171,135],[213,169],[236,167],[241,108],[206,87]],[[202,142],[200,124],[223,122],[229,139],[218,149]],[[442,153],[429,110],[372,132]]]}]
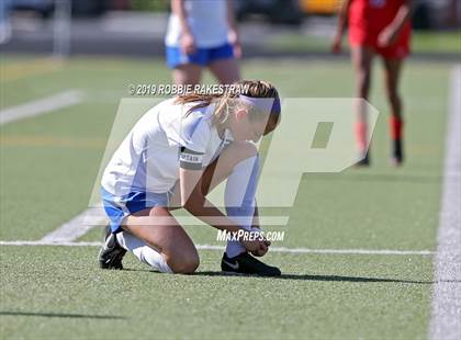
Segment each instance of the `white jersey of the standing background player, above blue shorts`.
[{"label": "white jersey of the standing background player, above blue shorts", "polygon": [[[227,43],[226,0],[184,0],[185,19],[199,48],[218,47]],[[181,25],[178,15],[171,13],[165,44],[180,45]]]}]

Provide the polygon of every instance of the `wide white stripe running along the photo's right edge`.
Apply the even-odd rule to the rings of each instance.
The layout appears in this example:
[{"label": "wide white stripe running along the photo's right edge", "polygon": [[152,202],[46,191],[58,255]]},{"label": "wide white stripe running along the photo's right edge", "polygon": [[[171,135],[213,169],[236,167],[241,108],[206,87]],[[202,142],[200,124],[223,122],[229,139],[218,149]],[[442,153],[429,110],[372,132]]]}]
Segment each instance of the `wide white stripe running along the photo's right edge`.
[{"label": "wide white stripe running along the photo's right edge", "polygon": [[461,65],[451,73],[430,339],[461,339]]}]

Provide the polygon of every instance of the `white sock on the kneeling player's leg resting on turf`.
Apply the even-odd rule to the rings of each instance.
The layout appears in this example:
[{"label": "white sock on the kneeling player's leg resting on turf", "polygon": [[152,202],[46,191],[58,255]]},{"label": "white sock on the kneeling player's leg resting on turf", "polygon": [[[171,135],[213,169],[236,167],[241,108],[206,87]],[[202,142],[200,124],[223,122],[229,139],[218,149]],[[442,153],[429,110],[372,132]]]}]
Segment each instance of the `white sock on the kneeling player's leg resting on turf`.
[{"label": "white sock on the kneeling player's leg resting on turf", "polygon": [[153,269],[161,273],[172,273],[164,257],[154,248],[149,247],[136,236],[122,231],[116,235],[116,240],[126,250],[134,253],[140,262],[150,265]]}]

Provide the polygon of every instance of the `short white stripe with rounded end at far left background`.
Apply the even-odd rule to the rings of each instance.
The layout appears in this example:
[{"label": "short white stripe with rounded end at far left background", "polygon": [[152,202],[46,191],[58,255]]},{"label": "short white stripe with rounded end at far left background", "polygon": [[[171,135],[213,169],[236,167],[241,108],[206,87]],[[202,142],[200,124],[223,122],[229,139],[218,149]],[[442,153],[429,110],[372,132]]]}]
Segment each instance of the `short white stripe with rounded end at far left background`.
[{"label": "short white stripe with rounded end at far left background", "polygon": [[27,102],[25,104],[8,107],[0,111],[0,125],[76,105],[82,102],[83,98],[85,95],[82,91],[68,90],[50,97]]}]

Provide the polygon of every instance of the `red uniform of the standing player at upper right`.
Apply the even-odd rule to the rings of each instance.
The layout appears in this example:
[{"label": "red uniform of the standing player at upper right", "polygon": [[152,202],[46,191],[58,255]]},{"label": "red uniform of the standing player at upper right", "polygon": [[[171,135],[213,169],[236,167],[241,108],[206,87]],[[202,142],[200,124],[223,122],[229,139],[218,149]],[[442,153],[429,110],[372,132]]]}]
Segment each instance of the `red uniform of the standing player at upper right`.
[{"label": "red uniform of the standing player at upper right", "polygon": [[351,0],[349,41],[352,46],[370,46],[384,57],[405,57],[409,53],[411,23],[405,23],[397,41],[380,47],[378,36],[397,15],[405,0]]}]

